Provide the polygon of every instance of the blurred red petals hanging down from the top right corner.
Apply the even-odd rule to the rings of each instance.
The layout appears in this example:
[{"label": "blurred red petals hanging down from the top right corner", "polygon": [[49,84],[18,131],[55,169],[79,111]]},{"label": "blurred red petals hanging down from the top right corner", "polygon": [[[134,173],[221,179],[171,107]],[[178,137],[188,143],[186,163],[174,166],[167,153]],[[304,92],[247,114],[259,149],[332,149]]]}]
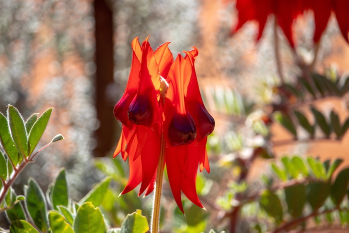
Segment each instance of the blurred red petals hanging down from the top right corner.
[{"label": "blurred red petals hanging down from the top right corner", "polygon": [[336,13],[342,34],[349,42],[348,0],[236,0],[236,8],[238,10],[238,23],[233,32],[240,29],[245,22],[256,20],[259,24],[257,36],[257,40],[259,40],[268,15],[273,14],[291,47],[295,46],[292,24],[298,15],[303,14],[305,10],[314,12],[315,31],[313,39],[314,42],[319,42],[333,10]]}]

